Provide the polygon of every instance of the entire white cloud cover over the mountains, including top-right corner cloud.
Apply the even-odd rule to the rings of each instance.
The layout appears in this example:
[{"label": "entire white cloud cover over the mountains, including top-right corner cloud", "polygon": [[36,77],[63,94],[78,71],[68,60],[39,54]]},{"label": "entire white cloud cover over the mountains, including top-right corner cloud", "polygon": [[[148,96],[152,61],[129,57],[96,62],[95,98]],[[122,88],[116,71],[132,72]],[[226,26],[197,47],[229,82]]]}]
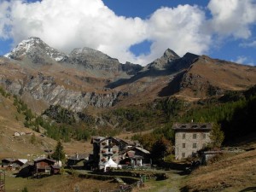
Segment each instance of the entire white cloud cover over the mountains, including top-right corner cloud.
[{"label": "entire white cloud cover over the mountains, including top-right corner cloud", "polygon": [[[254,0],[211,0],[208,9],[191,5],[160,8],[147,19],[115,15],[102,0],[0,0],[0,38],[14,44],[35,36],[50,46],[69,53],[74,48],[90,47],[118,58],[147,64],[170,48],[207,54],[212,35],[248,38],[255,23]],[[143,41],[152,42],[150,52],[134,55],[130,48]]]}]

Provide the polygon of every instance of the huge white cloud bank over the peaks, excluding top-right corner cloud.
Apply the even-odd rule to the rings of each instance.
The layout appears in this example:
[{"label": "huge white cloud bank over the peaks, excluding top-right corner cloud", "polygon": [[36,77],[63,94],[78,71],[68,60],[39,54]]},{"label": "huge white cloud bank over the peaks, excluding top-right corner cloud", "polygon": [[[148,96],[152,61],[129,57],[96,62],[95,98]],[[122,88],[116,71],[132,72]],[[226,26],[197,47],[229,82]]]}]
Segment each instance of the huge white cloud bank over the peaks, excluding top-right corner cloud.
[{"label": "huge white cloud bank over the peaks, excluding top-right corner cloud", "polygon": [[[147,64],[167,48],[181,55],[186,51],[201,54],[210,42],[210,36],[200,32],[204,13],[189,5],[158,9],[148,20],[117,16],[102,0],[16,0],[9,3],[9,9],[3,5],[1,9],[9,10],[9,20],[5,18],[0,25],[9,24],[9,37],[15,44],[36,36],[62,51],[86,46],[121,62]],[[4,35],[2,30],[0,36]],[[129,49],[144,40],[154,42],[151,53],[136,57]]]}]

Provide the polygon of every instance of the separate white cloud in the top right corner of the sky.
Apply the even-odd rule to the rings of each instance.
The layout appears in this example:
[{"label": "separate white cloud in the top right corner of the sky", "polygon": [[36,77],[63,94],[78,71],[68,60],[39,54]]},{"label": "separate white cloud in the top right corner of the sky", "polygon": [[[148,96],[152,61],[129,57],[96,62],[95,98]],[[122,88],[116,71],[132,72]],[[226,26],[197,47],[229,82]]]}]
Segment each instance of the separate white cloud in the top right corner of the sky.
[{"label": "separate white cloud in the top right corner of the sky", "polygon": [[208,9],[212,13],[210,28],[220,36],[249,38],[250,25],[256,22],[255,0],[211,0]]}]

